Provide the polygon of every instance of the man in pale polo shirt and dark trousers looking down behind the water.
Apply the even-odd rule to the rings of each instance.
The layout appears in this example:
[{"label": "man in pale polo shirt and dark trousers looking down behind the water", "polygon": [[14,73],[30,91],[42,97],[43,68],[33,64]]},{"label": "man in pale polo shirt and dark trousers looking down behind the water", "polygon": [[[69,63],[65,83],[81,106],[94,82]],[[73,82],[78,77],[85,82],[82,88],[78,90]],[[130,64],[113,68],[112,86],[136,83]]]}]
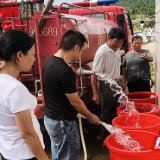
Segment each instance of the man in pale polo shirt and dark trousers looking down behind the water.
[{"label": "man in pale polo shirt and dark trousers looking down behind the water", "polygon": [[[107,42],[101,45],[94,57],[93,71],[95,75],[91,76],[91,85],[93,91],[93,101],[101,105],[100,120],[112,124],[112,119],[116,117],[116,110],[119,106],[118,97],[111,90],[110,84],[105,83],[105,79],[99,74],[106,74],[110,78],[125,88],[124,82],[120,78],[120,49],[125,38],[124,30],[120,27],[112,28],[108,33]],[[99,92],[98,92],[99,84]],[[110,133],[101,127],[101,138],[105,139]]]}]

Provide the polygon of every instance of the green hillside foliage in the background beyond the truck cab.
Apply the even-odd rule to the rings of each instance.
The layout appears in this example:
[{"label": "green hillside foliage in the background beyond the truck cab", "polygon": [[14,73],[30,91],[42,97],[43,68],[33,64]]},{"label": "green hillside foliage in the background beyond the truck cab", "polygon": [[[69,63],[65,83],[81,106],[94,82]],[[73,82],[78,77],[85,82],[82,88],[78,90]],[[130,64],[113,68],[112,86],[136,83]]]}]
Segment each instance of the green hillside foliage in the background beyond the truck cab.
[{"label": "green hillside foliage in the background beyond the truck cab", "polygon": [[131,15],[154,15],[155,0],[120,0],[116,6],[122,6],[131,12]]}]

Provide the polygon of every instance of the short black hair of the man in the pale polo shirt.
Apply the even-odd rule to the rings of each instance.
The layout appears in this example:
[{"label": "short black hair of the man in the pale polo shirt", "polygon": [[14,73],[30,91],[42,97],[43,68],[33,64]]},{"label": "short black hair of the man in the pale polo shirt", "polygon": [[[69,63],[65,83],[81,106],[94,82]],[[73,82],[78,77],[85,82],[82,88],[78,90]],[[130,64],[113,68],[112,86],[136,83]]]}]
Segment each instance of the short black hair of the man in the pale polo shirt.
[{"label": "short black hair of the man in the pale polo shirt", "polygon": [[108,33],[111,39],[117,38],[118,40],[125,38],[125,32],[121,27],[114,27]]}]

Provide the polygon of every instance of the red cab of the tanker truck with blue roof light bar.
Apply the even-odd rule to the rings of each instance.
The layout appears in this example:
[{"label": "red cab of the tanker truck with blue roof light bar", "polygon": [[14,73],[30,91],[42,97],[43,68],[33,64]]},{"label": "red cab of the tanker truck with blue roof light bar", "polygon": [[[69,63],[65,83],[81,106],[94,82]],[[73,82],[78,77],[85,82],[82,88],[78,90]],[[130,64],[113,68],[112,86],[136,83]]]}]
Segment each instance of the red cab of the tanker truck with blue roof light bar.
[{"label": "red cab of the tanker truck with blue roof light bar", "polygon": [[[118,0],[105,0],[107,5],[92,6],[90,3],[74,3],[74,5],[81,6],[83,8],[71,9],[69,14],[79,15],[88,18],[98,18],[103,20],[109,20],[116,23],[119,27],[122,27],[125,31],[125,44],[123,49],[125,52],[131,50],[131,39],[133,37],[133,26],[130,18],[130,12],[120,6],[110,6],[109,4],[118,2]],[[105,2],[103,1],[103,3]],[[94,3],[95,4],[95,3]],[[97,3],[98,4],[98,3]],[[87,6],[89,5],[89,6]]]}]

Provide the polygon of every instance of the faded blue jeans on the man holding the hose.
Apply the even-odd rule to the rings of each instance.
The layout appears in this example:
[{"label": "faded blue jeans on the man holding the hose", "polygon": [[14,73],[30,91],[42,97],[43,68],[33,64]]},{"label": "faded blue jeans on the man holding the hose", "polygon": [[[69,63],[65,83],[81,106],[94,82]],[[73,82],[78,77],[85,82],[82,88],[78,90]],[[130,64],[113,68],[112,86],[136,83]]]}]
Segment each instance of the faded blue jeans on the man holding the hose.
[{"label": "faded blue jeans on the man holding the hose", "polygon": [[52,160],[78,160],[80,138],[76,121],[57,121],[44,117],[51,139]]}]

